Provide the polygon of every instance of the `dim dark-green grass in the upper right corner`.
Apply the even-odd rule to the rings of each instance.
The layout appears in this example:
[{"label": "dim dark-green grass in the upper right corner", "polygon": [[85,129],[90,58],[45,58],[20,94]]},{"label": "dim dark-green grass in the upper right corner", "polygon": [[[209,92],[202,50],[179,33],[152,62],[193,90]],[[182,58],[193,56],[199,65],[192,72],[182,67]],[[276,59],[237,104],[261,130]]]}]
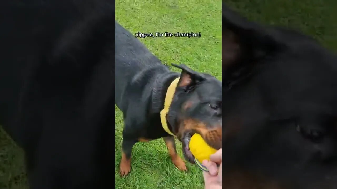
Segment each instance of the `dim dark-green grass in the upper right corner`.
[{"label": "dim dark-green grass in the upper right corner", "polygon": [[252,21],[301,31],[337,50],[335,0],[229,0],[226,3]]}]

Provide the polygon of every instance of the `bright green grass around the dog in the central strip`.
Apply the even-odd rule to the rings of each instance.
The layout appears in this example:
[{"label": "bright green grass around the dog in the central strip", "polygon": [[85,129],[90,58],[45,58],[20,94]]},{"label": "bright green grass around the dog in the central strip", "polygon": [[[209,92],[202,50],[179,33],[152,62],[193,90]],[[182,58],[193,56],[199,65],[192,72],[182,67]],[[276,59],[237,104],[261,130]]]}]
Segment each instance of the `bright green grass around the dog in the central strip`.
[{"label": "bright green grass around the dog in the central strip", "polygon": [[[221,1],[136,1],[116,2],[116,20],[133,35],[135,33],[198,33],[201,37],[147,37],[140,40],[163,64],[186,64],[200,72],[211,73],[218,79],[221,74]],[[174,71],[179,71],[171,67]],[[131,173],[119,175],[122,113],[115,108],[115,181],[121,189],[201,189],[202,172],[187,163],[186,173],[172,163],[162,139],[137,143],[132,150]],[[158,125],[160,126],[160,125]],[[181,144],[176,142],[182,156]]]}]

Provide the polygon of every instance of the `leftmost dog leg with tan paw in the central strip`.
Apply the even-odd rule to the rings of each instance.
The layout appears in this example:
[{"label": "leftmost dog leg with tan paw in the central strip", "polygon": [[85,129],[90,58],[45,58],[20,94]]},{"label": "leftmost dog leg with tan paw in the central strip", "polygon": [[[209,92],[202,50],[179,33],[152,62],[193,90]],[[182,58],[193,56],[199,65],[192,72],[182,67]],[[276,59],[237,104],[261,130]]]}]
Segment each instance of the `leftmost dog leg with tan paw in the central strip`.
[{"label": "leftmost dog leg with tan paw in the central strip", "polygon": [[131,151],[132,151],[132,147],[134,144],[135,144],[134,141],[123,139],[122,159],[119,164],[119,170],[120,170],[121,177],[126,176],[131,171]]}]

